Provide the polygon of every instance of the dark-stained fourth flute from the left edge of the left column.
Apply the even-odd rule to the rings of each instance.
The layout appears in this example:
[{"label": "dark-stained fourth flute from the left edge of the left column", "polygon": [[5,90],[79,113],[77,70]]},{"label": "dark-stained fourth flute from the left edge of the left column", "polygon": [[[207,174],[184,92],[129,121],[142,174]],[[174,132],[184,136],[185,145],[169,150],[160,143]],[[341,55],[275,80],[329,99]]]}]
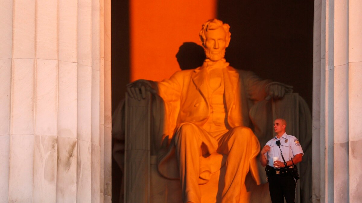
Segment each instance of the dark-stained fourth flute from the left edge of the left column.
[{"label": "dark-stained fourth flute from the left edge of the left column", "polygon": [[59,1],[57,202],[77,197],[77,6]]}]

